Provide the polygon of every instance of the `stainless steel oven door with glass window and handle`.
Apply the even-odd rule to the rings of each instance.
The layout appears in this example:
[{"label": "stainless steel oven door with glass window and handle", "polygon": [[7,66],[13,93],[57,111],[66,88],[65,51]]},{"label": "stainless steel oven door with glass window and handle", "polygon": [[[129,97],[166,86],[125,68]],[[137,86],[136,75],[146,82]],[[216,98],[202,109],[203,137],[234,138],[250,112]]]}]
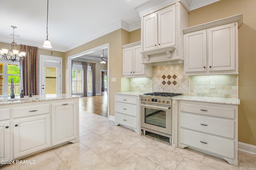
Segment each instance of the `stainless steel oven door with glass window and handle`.
[{"label": "stainless steel oven door with glass window and handle", "polygon": [[172,107],[140,104],[140,126],[172,135]]}]

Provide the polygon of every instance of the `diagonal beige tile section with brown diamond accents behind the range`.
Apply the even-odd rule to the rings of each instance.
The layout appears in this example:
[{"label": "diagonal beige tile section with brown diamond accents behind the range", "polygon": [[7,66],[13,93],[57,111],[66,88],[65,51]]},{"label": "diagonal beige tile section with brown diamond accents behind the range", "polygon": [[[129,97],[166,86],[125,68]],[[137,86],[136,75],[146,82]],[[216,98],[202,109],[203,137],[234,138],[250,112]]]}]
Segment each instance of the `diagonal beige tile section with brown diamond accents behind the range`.
[{"label": "diagonal beige tile section with brown diamond accents behind the range", "polygon": [[153,91],[189,95],[189,77],[184,76],[184,64],[154,66]]}]

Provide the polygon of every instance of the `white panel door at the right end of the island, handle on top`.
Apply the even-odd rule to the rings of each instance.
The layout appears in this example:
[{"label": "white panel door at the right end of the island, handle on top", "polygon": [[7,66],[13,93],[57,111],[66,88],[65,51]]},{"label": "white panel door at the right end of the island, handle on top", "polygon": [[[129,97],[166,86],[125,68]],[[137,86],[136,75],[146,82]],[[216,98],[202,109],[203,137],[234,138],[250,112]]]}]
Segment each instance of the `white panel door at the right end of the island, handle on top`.
[{"label": "white panel door at the right end of the island, handle on top", "polygon": [[76,139],[76,102],[52,104],[52,145]]}]

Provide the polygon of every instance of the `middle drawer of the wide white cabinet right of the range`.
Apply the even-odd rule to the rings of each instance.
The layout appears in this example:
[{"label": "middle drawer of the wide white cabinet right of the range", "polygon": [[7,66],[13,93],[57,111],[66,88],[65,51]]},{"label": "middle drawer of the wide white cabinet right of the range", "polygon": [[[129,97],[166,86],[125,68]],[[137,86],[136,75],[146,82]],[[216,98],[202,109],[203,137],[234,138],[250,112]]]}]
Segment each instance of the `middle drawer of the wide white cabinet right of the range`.
[{"label": "middle drawer of the wide white cabinet right of the range", "polygon": [[180,113],[180,127],[234,139],[235,122]]}]

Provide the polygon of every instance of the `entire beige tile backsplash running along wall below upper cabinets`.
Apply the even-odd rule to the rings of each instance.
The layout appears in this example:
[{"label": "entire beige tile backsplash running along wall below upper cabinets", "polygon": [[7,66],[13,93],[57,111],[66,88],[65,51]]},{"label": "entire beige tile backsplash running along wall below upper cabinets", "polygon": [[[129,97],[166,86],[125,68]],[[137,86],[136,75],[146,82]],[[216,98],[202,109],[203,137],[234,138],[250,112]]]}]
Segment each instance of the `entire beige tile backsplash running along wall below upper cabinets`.
[{"label": "entire beige tile backsplash running along wall below upper cabinets", "polygon": [[174,92],[186,96],[238,98],[237,84],[237,75],[184,76],[184,64],[169,64],[153,66],[152,78],[122,78],[122,92]]}]

